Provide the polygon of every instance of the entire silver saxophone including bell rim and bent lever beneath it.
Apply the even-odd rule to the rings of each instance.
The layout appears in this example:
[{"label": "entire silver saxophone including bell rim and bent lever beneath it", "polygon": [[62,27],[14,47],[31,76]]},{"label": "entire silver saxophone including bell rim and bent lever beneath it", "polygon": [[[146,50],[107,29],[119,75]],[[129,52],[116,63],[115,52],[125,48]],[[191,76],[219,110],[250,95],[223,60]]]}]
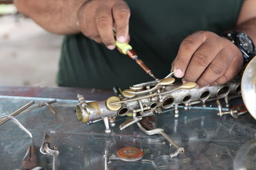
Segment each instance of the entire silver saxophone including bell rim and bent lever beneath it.
[{"label": "entire silver saxophone including bell rim and bent lever beneath it", "polygon": [[[134,85],[126,90],[120,90],[118,96],[111,96],[102,101],[86,103],[81,94],[77,94],[79,104],[76,106],[77,120],[81,123],[92,124],[103,120],[106,127],[105,132],[110,133],[109,125],[115,126],[116,117],[125,115],[132,117],[120,125],[122,131],[129,125],[137,124],[141,131],[147,135],[161,134],[177,150],[170,153],[170,157],[176,157],[184,153],[184,148],[179,146],[170,138],[163,129],[153,127],[147,129],[142,120],[152,118],[154,113],[163,113],[174,108],[174,117],[179,117],[178,106],[201,105],[205,107],[208,101],[216,101],[219,113],[228,114],[234,118],[249,112],[256,119],[256,57],[251,60],[244,70],[242,78],[228,81],[222,85],[196,88],[195,82],[175,83],[172,73],[162,80],[149,81]],[[244,104],[229,108],[229,99],[243,97]],[[220,99],[224,99],[228,111],[223,111]],[[245,106],[246,107],[245,107]],[[143,119],[145,118],[145,119]],[[149,120],[149,119],[148,119]],[[146,121],[147,123],[147,121]]]}]

